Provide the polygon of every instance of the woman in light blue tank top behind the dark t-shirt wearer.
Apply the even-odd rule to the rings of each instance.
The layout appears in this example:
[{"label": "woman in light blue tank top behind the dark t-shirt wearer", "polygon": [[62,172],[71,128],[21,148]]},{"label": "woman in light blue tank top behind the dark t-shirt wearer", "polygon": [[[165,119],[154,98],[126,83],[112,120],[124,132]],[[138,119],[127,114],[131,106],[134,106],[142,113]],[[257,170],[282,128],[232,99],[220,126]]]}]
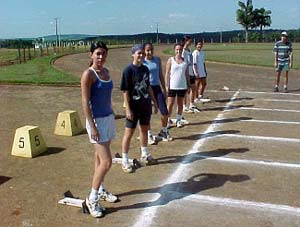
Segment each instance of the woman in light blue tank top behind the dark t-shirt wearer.
[{"label": "woman in light blue tank top behind the dark t-shirt wearer", "polygon": [[[153,90],[153,95],[156,99],[158,109],[161,113],[161,126],[162,129],[159,132],[158,136],[163,141],[170,141],[172,138],[169,135],[167,128],[168,123],[168,108],[166,104],[166,86],[165,80],[162,73],[162,65],[159,57],[153,56],[154,48],[151,43],[146,43],[144,45],[145,50],[145,60],[144,65],[147,66],[150,72],[150,86]],[[148,130],[148,143],[152,144],[154,141],[151,130]]]}]

